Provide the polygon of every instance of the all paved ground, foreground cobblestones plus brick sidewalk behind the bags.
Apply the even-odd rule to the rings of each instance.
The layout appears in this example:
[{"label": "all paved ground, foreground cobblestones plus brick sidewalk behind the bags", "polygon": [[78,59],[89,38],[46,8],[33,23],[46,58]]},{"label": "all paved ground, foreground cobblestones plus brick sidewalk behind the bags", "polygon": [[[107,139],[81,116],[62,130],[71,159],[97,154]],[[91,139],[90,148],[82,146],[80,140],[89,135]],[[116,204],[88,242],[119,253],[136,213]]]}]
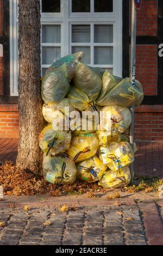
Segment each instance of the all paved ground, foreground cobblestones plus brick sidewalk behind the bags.
[{"label": "all paved ground, foreground cobblestones plus brick sidewalk behind the bags", "polygon": [[[163,178],[163,143],[139,142],[136,175]],[[15,161],[16,139],[0,139],[0,161]],[[163,199],[156,193],[14,197],[0,202],[0,245],[163,245]],[[24,205],[29,209],[24,210]],[[62,205],[66,212],[60,212]],[[48,221],[48,222],[47,222]]]}]

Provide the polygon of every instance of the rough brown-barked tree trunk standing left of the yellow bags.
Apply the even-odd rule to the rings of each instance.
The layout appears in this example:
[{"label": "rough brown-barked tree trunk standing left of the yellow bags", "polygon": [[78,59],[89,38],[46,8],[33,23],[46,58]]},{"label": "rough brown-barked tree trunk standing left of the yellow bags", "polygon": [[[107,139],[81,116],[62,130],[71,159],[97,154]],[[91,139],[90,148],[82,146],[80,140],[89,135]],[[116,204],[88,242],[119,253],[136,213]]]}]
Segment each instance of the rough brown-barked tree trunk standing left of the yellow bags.
[{"label": "rough brown-barked tree trunk standing left of the yellow bags", "polygon": [[42,130],[40,87],[40,1],[18,1],[18,108],[20,139],[16,164],[39,173],[42,153],[38,136]]}]

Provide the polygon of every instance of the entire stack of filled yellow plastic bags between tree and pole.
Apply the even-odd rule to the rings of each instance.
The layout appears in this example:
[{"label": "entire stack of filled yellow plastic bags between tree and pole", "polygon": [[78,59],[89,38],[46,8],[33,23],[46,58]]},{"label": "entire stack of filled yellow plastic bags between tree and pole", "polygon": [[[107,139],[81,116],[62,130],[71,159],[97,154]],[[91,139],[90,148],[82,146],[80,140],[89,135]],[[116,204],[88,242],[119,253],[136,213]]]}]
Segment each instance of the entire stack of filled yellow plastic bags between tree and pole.
[{"label": "entire stack of filled yellow plastic bags between tree and pole", "polygon": [[[141,84],[80,62],[83,52],[57,60],[42,79],[39,136],[43,175],[52,184],[76,179],[105,188],[127,186],[136,144],[129,143],[129,107],[140,105]],[[98,154],[98,155],[97,155]]]}]

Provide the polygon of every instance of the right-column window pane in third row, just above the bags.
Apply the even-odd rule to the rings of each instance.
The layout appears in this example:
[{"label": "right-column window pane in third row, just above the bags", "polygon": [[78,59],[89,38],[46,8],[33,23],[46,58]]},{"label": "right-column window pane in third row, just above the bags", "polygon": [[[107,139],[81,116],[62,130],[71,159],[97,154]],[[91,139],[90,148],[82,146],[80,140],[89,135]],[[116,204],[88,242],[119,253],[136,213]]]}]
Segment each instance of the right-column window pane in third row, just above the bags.
[{"label": "right-column window pane in third row, just above the bags", "polygon": [[113,48],[112,47],[95,47],[95,64],[112,65],[113,64]]}]

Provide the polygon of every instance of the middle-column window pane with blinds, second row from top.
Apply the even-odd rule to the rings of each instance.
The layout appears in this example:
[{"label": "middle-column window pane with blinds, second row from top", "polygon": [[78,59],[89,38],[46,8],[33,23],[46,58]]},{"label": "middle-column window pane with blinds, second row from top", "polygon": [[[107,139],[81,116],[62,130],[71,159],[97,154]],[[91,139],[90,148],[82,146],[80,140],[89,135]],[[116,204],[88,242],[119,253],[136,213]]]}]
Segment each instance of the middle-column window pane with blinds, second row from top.
[{"label": "middle-column window pane with blinds, second row from top", "polygon": [[72,42],[90,42],[91,32],[90,26],[73,25],[72,26]]}]

